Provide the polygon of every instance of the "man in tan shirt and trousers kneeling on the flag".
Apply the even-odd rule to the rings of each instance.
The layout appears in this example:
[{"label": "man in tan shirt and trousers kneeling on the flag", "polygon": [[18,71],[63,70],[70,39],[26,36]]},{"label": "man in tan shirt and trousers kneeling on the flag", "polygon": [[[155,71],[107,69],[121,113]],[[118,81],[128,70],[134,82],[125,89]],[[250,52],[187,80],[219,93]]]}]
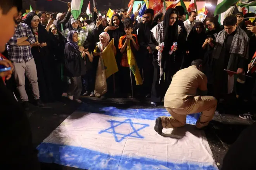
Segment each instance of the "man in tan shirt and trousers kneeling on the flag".
[{"label": "man in tan shirt and trousers kneeling on the flag", "polygon": [[171,81],[164,97],[164,107],[170,117],[156,119],[155,131],[162,133],[163,128],[185,126],[188,114],[202,112],[195,126],[198,129],[207,126],[213,119],[217,100],[207,94],[207,78],[202,73],[202,60],[192,61],[190,67],[178,71]]}]

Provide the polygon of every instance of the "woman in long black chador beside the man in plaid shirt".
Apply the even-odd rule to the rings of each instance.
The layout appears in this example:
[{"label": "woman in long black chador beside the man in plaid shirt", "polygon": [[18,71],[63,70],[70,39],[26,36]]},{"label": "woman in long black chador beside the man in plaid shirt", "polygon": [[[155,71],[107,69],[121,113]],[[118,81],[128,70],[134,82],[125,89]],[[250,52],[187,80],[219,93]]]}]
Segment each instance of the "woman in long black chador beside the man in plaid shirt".
[{"label": "woman in long black chador beside the man in plaid shirt", "polygon": [[39,22],[39,17],[35,12],[28,13],[25,24],[30,27],[36,39],[36,42],[31,44],[31,52],[36,64],[40,98],[43,102],[52,102],[54,101],[51,75],[53,60],[48,51],[50,46],[49,34]]}]

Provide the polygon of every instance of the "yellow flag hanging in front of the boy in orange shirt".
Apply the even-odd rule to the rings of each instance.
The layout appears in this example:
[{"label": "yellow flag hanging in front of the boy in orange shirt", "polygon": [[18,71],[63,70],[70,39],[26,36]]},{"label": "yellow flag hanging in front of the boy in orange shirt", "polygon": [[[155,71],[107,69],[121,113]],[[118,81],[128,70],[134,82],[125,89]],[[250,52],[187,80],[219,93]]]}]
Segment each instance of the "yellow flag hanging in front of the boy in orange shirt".
[{"label": "yellow flag hanging in front of the boy in orange shirt", "polygon": [[133,55],[131,51],[131,45],[130,41],[127,43],[127,57],[128,57],[128,64],[130,65],[131,72],[135,76],[136,85],[142,85],[142,78],[140,75],[140,70],[138,69],[138,65],[135,59],[135,56]]}]

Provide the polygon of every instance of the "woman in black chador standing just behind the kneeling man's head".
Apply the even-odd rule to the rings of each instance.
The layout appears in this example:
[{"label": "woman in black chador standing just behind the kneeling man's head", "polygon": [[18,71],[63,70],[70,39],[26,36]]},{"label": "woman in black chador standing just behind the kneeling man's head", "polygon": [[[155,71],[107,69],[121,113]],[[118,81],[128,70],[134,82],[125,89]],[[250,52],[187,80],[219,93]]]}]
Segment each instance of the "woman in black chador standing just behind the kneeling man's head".
[{"label": "woman in black chador standing just behind the kneeling man's head", "polygon": [[195,59],[203,59],[204,49],[202,45],[206,39],[204,24],[202,22],[196,22],[192,28],[186,43],[186,51],[188,54],[188,65],[191,65],[191,62]]}]

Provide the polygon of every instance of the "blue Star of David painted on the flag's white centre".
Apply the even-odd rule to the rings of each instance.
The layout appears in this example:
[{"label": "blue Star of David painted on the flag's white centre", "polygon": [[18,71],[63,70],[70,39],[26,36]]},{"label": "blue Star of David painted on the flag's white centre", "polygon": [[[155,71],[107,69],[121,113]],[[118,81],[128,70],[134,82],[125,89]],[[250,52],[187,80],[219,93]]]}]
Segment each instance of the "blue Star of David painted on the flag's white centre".
[{"label": "blue Star of David painted on the flag's white centre", "polygon": [[[105,130],[102,130],[99,132],[99,134],[102,134],[102,133],[110,133],[110,134],[113,134],[114,135],[114,138],[115,138],[115,141],[116,142],[121,142],[123,139],[125,139],[126,137],[130,136],[130,137],[133,137],[133,138],[140,138],[140,139],[143,139],[144,137],[141,136],[138,131],[140,131],[141,129],[144,129],[145,127],[148,127],[149,125],[148,124],[140,124],[140,123],[133,123],[131,121],[131,119],[126,119],[125,121],[123,122],[120,122],[120,121],[115,121],[115,120],[110,120],[108,121],[110,122],[111,126],[110,128],[107,128]],[[117,123],[117,124],[115,124]],[[128,123],[130,124],[131,126],[131,129],[132,131],[129,133],[129,134],[122,134],[122,133],[116,133],[115,131],[115,127],[121,125],[121,124],[124,124],[124,123]],[[115,124],[115,125],[114,125]],[[133,126],[133,124],[139,124],[139,125],[142,125],[141,128],[138,128],[138,129],[135,129],[135,127]],[[122,136],[120,139],[118,139],[118,136]]]}]

